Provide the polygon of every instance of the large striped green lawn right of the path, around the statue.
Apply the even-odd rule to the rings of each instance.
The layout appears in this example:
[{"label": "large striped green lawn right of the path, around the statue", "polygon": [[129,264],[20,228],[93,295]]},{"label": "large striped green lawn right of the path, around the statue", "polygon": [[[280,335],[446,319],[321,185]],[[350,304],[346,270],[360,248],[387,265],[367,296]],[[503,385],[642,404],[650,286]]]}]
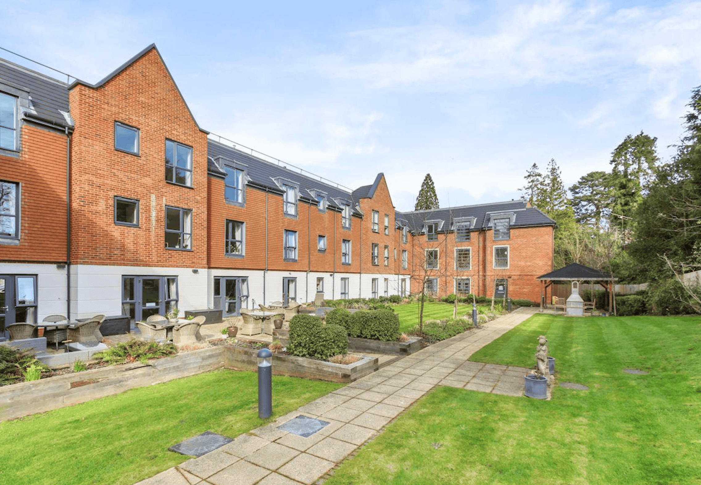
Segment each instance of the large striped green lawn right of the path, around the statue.
[{"label": "large striped green lawn right of the path, around the statue", "polygon": [[701,483],[700,317],[536,315],[472,360],[531,367],[539,334],[558,381],[590,390],[437,388],[326,485]]}]

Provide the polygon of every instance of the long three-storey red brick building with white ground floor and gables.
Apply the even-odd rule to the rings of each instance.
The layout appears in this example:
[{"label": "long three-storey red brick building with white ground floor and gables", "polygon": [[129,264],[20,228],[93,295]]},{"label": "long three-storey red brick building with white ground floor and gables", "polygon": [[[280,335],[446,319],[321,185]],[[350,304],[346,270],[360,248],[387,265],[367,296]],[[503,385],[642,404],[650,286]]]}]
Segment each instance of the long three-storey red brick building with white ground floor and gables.
[{"label": "long three-storey red brick building with white ground floor and gables", "polygon": [[535,301],[552,270],[522,201],[397,212],[383,174],[350,189],[208,136],[155,46],[96,84],[0,62],[0,101],[3,325],[422,285]]}]

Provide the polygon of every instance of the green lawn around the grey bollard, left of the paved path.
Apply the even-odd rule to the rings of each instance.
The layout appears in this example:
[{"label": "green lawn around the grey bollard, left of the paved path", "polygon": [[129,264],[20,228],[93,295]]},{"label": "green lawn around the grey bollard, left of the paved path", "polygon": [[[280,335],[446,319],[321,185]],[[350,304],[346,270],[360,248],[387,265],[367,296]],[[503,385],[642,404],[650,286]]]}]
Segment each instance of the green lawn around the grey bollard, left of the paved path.
[{"label": "green lawn around the grey bollard, left of the paved path", "polygon": [[[273,416],[341,384],[273,376]],[[189,459],[168,446],[236,437],[258,418],[253,372],[218,370],[0,423],[0,484],[134,484]]]}]

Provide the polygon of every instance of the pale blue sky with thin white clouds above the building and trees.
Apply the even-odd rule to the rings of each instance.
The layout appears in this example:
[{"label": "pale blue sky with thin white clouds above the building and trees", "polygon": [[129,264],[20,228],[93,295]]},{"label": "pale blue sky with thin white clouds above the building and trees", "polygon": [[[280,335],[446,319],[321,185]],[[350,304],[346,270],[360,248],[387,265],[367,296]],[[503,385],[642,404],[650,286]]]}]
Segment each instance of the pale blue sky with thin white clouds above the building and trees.
[{"label": "pale blue sky with thin white clouds above the building and trees", "polygon": [[[567,186],[641,130],[668,158],[701,85],[701,1],[0,3],[0,46],[97,82],[156,43],[200,126],[411,210]],[[0,51],[0,57],[15,58]],[[21,62],[25,64],[25,61]]]}]

